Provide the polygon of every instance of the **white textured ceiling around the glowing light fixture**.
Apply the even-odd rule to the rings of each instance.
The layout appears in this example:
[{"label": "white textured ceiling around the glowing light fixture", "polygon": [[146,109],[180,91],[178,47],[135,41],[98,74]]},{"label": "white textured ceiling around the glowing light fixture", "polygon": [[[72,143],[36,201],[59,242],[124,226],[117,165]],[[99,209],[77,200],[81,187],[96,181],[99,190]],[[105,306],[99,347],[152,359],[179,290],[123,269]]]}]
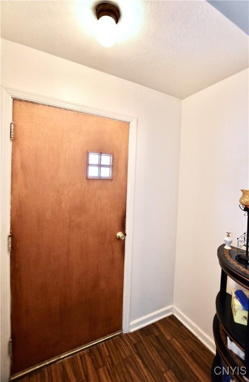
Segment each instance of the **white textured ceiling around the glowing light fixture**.
[{"label": "white textured ceiling around the glowing light fixture", "polygon": [[2,1],[1,37],[185,98],[248,67],[248,36],[207,1],[118,0],[119,39],[102,47],[99,1]]}]

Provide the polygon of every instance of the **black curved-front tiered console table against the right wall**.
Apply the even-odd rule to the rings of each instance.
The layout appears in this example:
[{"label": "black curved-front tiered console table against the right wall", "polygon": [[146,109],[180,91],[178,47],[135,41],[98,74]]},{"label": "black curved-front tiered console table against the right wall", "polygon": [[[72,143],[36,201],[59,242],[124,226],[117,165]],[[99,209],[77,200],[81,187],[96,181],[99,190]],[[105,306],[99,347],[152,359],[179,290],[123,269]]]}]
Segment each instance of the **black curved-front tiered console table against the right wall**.
[{"label": "black curved-front tiered console table against the right wall", "polygon": [[[240,264],[235,260],[237,249],[227,250],[224,245],[218,248],[218,259],[221,266],[220,291],[216,297],[216,314],[213,320],[213,334],[216,345],[216,356],[212,364],[212,382],[222,381],[222,374],[215,374],[215,369],[223,362],[229,367],[232,377],[239,382],[249,381],[249,320],[248,325],[234,322],[231,309],[231,295],[227,293],[227,277],[235,280],[241,286],[249,289],[249,265]],[[245,352],[242,361],[227,347],[227,336]],[[246,368],[246,369],[245,369]],[[247,374],[245,375],[245,370]],[[246,377],[246,379],[245,379]]]}]

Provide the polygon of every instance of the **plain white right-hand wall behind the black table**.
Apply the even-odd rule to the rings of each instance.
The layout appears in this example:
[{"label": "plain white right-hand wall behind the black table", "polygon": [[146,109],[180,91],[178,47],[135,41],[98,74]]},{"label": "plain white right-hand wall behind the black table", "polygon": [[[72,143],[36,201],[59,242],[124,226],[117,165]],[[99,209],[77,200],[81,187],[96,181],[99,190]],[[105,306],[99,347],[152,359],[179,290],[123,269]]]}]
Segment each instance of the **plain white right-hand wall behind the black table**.
[{"label": "plain white right-hand wall behind the black table", "polygon": [[217,247],[246,230],[249,71],[183,100],[175,313],[212,347],[219,290]]}]

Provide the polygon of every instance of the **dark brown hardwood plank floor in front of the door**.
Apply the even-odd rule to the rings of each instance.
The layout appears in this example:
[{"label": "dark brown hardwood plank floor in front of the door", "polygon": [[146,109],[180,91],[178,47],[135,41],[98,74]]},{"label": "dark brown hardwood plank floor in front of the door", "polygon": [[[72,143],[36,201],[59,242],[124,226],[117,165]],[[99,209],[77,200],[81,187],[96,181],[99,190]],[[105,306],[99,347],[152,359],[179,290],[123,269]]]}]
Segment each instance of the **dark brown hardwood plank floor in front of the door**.
[{"label": "dark brown hardwood plank floor in front of the door", "polygon": [[213,357],[172,315],[84,350],[19,382],[210,382]]}]

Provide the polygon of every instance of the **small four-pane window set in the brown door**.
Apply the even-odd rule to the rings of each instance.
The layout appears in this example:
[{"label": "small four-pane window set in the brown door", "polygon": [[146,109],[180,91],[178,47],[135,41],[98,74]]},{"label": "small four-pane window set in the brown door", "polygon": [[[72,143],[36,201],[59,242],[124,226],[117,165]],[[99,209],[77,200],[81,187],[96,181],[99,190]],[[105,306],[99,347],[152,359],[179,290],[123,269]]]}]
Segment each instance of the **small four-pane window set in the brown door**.
[{"label": "small four-pane window set in the brown door", "polygon": [[113,179],[113,155],[87,151],[86,179]]}]

